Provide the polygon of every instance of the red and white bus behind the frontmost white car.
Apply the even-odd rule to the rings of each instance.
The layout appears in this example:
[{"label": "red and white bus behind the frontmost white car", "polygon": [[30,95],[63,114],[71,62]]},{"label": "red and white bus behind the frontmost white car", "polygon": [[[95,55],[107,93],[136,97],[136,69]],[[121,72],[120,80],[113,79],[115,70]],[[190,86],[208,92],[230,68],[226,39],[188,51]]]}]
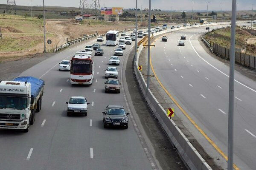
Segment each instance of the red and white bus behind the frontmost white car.
[{"label": "red and white bus behind the frontmost white car", "polygon": [[71,85],[92,85],[94,64],[90,55],[75,54],[70,61]]}]

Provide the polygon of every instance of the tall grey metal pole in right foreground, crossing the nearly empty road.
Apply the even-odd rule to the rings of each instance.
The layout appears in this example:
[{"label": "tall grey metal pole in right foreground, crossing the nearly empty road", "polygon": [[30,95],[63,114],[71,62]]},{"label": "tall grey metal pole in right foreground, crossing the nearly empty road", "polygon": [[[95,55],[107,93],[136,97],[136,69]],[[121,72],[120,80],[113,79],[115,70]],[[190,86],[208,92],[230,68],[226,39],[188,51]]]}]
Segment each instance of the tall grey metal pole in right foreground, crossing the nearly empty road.
[{"label": "tall grey metal pole in right foreground, crossing the nearly empty road", "polygon": [[233,170],[234,163],[234,66],[236,45],[236,0],[232,0],[231,42],[230,42],[230,78],[229,78],[229,104],[228,104],[228,144],[227,144],[227,169]]}]

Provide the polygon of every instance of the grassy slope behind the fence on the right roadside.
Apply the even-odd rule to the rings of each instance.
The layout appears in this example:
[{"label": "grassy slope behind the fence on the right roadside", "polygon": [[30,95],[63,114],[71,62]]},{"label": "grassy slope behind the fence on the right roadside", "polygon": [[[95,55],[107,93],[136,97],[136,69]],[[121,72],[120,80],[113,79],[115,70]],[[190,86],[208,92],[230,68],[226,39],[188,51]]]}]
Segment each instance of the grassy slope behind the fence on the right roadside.
[{"label": "grassy slope behind the fence on the right roadside", "polygon": [[[231,28],[224,28],[220,30],[216,30],[206,34],[206,39],[210,42],[218,43],[219,45],[229,47],[230,48],[230,40],[231,40]],[[244,31],[241,28],[236,28],[236,48],[245,48],[246,53],[256,55],[256,44],[248,45],[248,38],[253,38],[252,34],[247,31]]]}]

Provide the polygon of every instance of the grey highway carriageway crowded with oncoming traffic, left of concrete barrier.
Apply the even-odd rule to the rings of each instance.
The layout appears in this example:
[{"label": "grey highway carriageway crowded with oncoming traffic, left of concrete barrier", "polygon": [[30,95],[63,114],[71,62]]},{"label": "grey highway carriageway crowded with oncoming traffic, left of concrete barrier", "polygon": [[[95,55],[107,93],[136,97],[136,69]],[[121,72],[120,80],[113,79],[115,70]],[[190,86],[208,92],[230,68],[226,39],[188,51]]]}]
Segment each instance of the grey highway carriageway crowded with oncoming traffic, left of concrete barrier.
[{"label": "grey highway carriageway crowded with oncoming traffic, left of concrete barrier", "polygon": [[[139,39],[140,40],[140,39]],[[125,58],[134,47],[126,45],[119,80],[120,94],[105,94],[104,73],[114,48],[99,42],[104,56],[93,56],[94,81],[91,86],[71,86],[70,72],[59,71],[59,62],[71,59],[76,51],[92,45],[90,40],[67,48],[24,71],[20,76],[44,79],[42,110],[36,114],[29,133],[15,130],[0,132],[0,170],[157,170],[158,167],[138,130],[124,91]],[[132,73],[131,73],[132,74]],[[67,116],[70,96],[85,96],[90,102],[87,117]],[[107,105],[123,105],[129,115],[128,129],[104,129],[103,114]]]}]

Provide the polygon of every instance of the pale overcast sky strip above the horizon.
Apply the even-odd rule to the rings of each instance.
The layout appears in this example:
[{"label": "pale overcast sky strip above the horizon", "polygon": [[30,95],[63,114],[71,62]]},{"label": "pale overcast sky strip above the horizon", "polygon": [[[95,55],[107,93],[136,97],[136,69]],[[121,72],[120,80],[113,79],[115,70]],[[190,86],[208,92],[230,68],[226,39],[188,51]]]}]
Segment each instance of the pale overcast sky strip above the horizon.
[{"label": "pale overcast sky strip above the horizon", "polygon": [[[87,2],[93,2],[92,0],[86,0]],[[192,0],[151,0],[151,8],[157,8],[162,10],[192,10]],[[223,10],[230,11],[232,8],[232,0],[193,0],[194,10],[207,10],[207,2],[209,3],[208,10],[220,11],[221,3],[223,4]],[[237,10],[251,10],[254,3],[254,9],[256,9],[256,0],[236,0]],[[0,3],[5,4],[7,0],[0,0]],[[123,8],[135,8],[136,0],[99,0],[101,7],[123,7]],[[138,8],[148,8],[148,0],[138,0]],[[16,0],[16,5],[27,6],[30,0]],[[80,0],[44,0],[46,6],[70,6],[79,7]],[[43,5],[43,0],[32,0],[32,6]]]}]

